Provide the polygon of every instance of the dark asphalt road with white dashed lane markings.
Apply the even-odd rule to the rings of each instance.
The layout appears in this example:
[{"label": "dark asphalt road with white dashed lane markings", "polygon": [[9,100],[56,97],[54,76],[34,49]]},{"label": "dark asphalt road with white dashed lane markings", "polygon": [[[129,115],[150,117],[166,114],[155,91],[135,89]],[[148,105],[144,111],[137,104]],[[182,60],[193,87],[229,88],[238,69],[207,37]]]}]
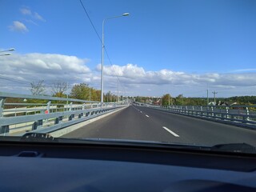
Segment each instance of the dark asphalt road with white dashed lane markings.
[{"label": "dark asphalt road with white dashed lane markings", "polygon": [[129,106],[62,138],[118,138],[198,145],[246,142],[256,146],[256,131],[143,106]]}]

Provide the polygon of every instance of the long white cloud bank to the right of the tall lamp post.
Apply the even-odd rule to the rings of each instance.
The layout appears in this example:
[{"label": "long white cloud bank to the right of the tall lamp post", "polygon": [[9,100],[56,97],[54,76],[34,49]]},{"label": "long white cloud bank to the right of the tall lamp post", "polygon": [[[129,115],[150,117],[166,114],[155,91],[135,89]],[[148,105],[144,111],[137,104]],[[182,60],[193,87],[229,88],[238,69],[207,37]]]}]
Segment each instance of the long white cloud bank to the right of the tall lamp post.
[{"label": "long white cloud bank to the right of the tall lamp post", "polygon": [[[101,70],[100,64],[97,70]],[[127,64],[126,66],[104,66],[105,81],[111,86],[116,86],[116,76],[119,75],[120,82],[138,91],[149,93],[150,86],[154,86],[155,91],[182,89],[186,92],[194,90],[206,90],[207,85],[217,90],[243,89],[245,86],[256,85],[255,73],[240,74],[190,74],[172,70],[146,71],[142,67]],[[225,89],[224,89],[225,90]],[[179,92],[182,93],[182,92]]]}]

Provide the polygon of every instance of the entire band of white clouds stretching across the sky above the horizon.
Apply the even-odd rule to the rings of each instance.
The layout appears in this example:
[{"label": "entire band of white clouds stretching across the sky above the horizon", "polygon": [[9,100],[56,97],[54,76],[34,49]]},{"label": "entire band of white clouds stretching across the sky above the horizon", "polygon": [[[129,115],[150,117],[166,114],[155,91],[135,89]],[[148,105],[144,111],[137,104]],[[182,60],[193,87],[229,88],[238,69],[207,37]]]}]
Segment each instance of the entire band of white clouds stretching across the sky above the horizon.
[{"label": "entire band of white clouds stretching across the sky above the horizon", "polygon": [[[2,66],[0,84],[6,86],[6,83],[9,83],[10,86],[10,83],[15,85],[17,81],[36,82],[38,80],[45,80],[48,85],[57,81],[69,82],[70,85],[86,82],[90,86],[100,89],[101,65],[97,66],[98,71],[90,70],[86,66],[88,61],[89,59],[63,54],[33,53],[0,57]],[[142,66],[134,64],[104,66],[104,69],[104,90],[116,93],[118,75],[120,94],[126,92],[126,94],[133,95],[161,96],[171,93],[172,95],[185,94],[186,96],[202,97],[202,95],[206,95],[206,89],[209,86],[211,90],[218,91],[218,96],[221,96],[222,93],[231,93],[232,91],[246,94],[252,90],[252,85],[256,85],[256,73],[190,74],[168,69],[147,71]],[[1,75],[17,81],[7,82],[5,80],[6,82],[3,83]],[[30,86],[29,83],[27,86]],[[23,87],[23,90],[27,90],[29,93],[29,89]],[[23,90],[21,89],[21,91]]]}]

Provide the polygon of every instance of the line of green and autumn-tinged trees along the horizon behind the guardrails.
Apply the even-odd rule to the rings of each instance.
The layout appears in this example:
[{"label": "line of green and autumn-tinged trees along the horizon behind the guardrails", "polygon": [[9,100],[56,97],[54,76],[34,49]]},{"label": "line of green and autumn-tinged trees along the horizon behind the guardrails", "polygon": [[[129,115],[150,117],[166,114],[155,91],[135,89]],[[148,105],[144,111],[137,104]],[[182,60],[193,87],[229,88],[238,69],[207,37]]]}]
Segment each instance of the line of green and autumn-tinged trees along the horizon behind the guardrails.
[{"label": "line of green and autumn-tinged trees along the horizon behind the guardrails", "polygon": [[[46,95],[46,86],[44,81],[31,82],[30,91],[33,95]],[[78,98],[87,101],[101,101],[101,90],[94,89],[86,83],[80,83],[70,87],[70,94],[67,95],[68,84],[66,82],[54,82],[51,86],[51,96],[58,98]],[[164,94],[162,97],[129,97],[135,102],[148,103],[152,105],[169,106],[206,106],[207,98],[184,98],[182,94],[172,97],[170,94]],[[110,91],[103,95],[104,102],[117,102],[118,96]],[[119,96],[122,100],[122,95]],[[236,103],[237,105],[256,105],[256,96],[235,96],[230,98],[216,98],[216,101],[226,102],[229,105]],[[6,102],[24,102],[21,98],[7,98]],[[27,99],[26,102],[47,102],[37,99]],[[54,103],[54,101],[53,101]],[[62,102],[61,102],[62,103]],[[64,102],[63,102],[64,103]],[[8,108],[14,106],[8,106]]]}]

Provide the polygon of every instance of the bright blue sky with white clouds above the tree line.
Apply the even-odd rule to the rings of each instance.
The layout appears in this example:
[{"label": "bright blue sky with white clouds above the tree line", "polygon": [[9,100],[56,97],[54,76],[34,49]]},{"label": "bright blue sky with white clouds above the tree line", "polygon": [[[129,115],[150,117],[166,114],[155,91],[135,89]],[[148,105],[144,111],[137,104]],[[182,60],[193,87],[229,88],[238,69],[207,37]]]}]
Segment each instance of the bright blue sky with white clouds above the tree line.
[{"label": "bright blue sky with white clouds above the tree line", "polygon": [[[208,86],[222,97],[255,95],[255,1],[82,2],[100,36],[104,18],[130,13],[106,21],[105,90],[116,91],[119,74],[122,94],[203,97]],[[0,4],[0,50],[16,49],[0,57],[0,75],[99,89],[101,42],[79,0]]]}]

